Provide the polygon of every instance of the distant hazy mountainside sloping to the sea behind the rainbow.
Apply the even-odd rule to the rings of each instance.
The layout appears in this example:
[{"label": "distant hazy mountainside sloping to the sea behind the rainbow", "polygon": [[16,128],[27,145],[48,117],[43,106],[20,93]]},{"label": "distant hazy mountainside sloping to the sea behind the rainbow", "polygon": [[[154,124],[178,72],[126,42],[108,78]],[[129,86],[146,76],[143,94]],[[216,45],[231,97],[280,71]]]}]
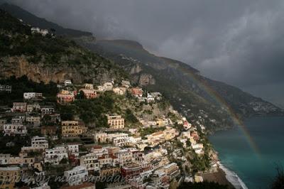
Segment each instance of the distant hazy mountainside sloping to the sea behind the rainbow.
[{"label": "distant hazy mountainside sloping to the sea behind the rainbow", "polygon": [[134,82],[148,90],[163,92],[175,108],[187,117],[193,120],[204,117],[204,121],[212,128],[232,124],[227,119],[231,114],[241,118],[283,115],[283,110],[275,105],[231,85],[203,77],[198,70],[178,60],[148,53],[137,42],[81,41],[81,45],[111,58],[131,73]]}]

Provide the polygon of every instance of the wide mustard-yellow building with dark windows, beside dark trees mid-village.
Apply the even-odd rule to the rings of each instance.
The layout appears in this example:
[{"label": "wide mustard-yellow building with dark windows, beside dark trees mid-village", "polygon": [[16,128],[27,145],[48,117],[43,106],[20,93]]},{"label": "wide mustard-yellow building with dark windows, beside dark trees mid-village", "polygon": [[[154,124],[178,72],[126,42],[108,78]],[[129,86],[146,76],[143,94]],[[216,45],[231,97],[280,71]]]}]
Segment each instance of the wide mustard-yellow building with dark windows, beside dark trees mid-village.
[{"label": "wide mustard-yellow building with dark windows, beside dark trees mid-village", "polygon": [[87,131],[87,127],[79,121],[62,121],[62,137],[77,137]]}]

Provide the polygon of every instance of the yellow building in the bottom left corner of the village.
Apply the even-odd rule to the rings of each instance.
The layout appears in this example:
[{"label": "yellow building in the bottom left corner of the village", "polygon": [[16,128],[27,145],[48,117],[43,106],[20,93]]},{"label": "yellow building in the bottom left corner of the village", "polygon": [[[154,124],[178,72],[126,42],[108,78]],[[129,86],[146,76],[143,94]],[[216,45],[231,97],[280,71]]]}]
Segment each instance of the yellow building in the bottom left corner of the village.
[{"label": "yellow building in the bottom left corner of the village", "polygon": [[19,167],[0,167],[0,188],[14,188],[20,177]]}]

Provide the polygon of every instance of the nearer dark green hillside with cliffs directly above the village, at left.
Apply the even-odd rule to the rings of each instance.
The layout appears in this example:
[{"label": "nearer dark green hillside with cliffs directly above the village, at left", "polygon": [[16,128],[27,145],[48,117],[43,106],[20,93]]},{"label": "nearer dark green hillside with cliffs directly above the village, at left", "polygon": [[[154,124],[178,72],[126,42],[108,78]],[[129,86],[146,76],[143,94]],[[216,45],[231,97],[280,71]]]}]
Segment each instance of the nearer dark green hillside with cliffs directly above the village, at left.
[{"label": "nearer dark green hillside with cliffs directly above the village, at left", "polygon": [[35,82],[99,83],[121,80],[123,70],[67,38],[31,33],[31,26],[0,9],[0,77],[27,75]]}]

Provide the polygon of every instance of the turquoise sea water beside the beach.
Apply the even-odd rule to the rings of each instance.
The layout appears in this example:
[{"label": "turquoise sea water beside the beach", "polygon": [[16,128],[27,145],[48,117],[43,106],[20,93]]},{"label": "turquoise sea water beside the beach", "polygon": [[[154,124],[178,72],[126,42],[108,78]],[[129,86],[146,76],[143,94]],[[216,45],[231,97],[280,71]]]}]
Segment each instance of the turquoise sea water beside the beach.
[{"label": "turquoise sea water beside the beach", "polygon": [[244,124],[249,137],[236,128],[219,131],[209,140],[222,164],[239,175],[249,189],[268,188],[276,166],[284,167],[284,117],[256,117]]}]

